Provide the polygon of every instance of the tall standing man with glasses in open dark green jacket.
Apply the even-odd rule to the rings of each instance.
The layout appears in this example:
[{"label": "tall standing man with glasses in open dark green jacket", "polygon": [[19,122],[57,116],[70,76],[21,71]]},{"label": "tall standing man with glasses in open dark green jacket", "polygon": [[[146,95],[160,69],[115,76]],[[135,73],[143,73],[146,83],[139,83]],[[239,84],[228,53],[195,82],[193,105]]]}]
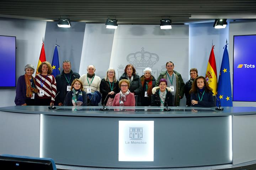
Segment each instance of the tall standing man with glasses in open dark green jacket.
[{"label": "tall standing man with glasses in open dark green jacket", "polygon": [[184,96],[185,83],[181,77],[181,74],[174,71],[174,63],[168,61],[165,64],[167,71],[160,73],[156,80],[156,86],[159,86],[159,80],[164,78],[167,80],[167,87],[171,88],[171,94],[173,97],[173,106],[180,106],[180,100]]}]

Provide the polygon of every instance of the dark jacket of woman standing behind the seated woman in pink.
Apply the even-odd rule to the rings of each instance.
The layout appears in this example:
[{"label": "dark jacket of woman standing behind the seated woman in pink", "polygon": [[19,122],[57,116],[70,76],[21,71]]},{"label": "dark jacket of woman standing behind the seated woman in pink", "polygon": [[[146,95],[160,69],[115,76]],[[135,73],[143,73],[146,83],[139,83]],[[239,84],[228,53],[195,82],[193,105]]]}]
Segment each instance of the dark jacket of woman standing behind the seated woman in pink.
[{"label": "dark jacket of woman standing behind the seated woman in pink", "polygon": [[[121,77],[119,78],[119,81],[122,79],[127,79],[126,73],[123,73]],[[137,74],[133,75],[133,81],[130,82],[130,88],[129,88],[131,93],[134,93],[135,95],[140,95],[142,92],[142,84],[140,82],[140,78]]]}]

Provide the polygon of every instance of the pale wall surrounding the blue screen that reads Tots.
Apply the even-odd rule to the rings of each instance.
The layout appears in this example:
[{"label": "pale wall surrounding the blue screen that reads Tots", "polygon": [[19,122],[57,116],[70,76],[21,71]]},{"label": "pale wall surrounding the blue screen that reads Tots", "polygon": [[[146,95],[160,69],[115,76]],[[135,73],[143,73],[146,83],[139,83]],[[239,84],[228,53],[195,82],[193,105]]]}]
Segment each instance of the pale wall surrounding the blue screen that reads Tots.
[{"label": "pale wall surrounding the blue screen that reads Tots", "polygon": [[[229,23],[229,65],[231,84],[233,83],[233,38],[234,35],[251,35],[256,34],[256,20],[253,21],[236,21]],[[255,42],[256,43],[256,42]],[[233,89],[233,85],[231,85]],[[241,89],[244,90],[244,89]],[[233,102],[233,106],[252,106],[256,107],[256,102]]]}]

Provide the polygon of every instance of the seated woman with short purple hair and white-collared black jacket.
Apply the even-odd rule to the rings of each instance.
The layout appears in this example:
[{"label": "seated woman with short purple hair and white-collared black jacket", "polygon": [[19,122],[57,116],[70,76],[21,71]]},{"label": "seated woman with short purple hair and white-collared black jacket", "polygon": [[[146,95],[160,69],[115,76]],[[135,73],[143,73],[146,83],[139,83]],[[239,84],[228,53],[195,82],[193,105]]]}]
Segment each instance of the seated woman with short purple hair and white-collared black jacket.
[{"label": "seated woman with short purple hair and white-collared black jacket", "polygon": [[166,86],[166,79],[160,79],[159,87],[152,89],[151,106],[172,106],[171,88]]}]

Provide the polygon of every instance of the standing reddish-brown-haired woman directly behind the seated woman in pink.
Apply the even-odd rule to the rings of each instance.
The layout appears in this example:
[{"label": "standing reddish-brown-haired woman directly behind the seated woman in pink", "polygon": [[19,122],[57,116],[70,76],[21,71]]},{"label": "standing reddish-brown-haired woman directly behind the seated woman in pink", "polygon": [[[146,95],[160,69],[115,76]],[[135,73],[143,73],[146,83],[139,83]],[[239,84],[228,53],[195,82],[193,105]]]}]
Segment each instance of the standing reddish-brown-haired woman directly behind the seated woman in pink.
[{"label": "standing reddish-brown-haired woman directly behind the seated woman in pink", "polygon": [[132,64],[128,64],[124,69],[124,73],[119,78],[119,81],[122,79],[127,79],[130,81],[130,92],[134,95],[140,95],[142,92],[142,84],[140,82],[139,76],[136,74],[136,70]]}]

